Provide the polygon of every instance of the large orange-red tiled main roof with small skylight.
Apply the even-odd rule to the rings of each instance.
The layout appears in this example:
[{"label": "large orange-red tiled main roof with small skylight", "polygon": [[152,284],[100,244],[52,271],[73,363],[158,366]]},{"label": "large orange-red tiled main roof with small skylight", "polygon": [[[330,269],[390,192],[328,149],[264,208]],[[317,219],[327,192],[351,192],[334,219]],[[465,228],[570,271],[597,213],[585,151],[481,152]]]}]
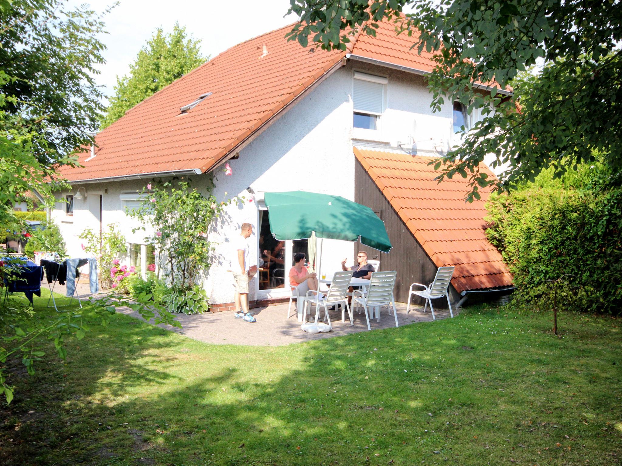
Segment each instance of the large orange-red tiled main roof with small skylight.
[{"label": "large orange-red tiled main roof with small skylight", "polygon": [[[287,42],[285,33],[291,27],[239,43],[145,99],[96,136],[95,158],[85,162],[90,153],[80,153],[83,167],[62,167],[60,173],[78,181],[172,170],[205,171],[218,165],[333,66],[339,66],[348,53],[422,71],[434,66],[429,53],[418,55],[411,50],[414,38],[405,34],[396,37],[393,24],[380,24],[376,37],[356,35],[343,52]],[[262,56],[264,45],[268,53]],[[180,107],[207,92],[212,94],[180,112]],[[417,161],[408,170],[425,176],[428,169],[425,162]],[[399,175],[391,172],[391,176]],[[383,183],[393,186],[401,181],[386,178]]]}]

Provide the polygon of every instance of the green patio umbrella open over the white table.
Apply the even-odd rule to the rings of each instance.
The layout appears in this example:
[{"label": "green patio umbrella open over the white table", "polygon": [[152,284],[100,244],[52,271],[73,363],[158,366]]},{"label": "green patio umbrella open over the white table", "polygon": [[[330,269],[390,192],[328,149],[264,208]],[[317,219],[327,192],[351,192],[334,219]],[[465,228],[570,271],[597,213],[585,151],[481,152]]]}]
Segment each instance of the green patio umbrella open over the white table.
[{"label": "green patio umbrella open over the white table", "polygon": [[[310,238],[315,236],[361,243],[389,252],[391,242],[384,222],[374,211],[341,196],[287,191],[266,193],[270,231],[278,240]],[[322,242],[320,240],[320,251]],[[322,261],[319,252],[318,271]]]}]

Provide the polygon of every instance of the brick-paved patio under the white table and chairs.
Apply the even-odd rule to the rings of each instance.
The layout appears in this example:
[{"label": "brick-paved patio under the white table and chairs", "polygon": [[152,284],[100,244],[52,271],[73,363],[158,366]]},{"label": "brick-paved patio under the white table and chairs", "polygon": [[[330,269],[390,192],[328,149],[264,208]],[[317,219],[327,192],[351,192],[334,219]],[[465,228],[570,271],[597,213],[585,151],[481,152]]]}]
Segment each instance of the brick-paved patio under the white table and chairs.
[{"label": "brick-paved patio under the white table and chairs", "polygon": [[[42,284],[43,285],[43,284]],[[47,284],[46,284],[47,285]],[[65,287],[58,286],[54,291],[65,294]],[[80,296],[88,296],[88,283],[79,283],[78,291]],[[189,338],[210,344],[233,344],[233,345],[269,345],[279,346],[290,343],[299,343],[322,338],[332,338],[348,335],[356,332],[366,332],[367,325],[365,315],[354,314],[354,326],[350,325],[348,314],[346,322],[341,322],[341,311],[329,313],[333,324],[333,331],[327,333],[310,334],[300,329],[300,322],[297,321],[294,305],[292,304],[292,316],[287,319],[288,304],[277,304],[265,308],[254,308],[251,310],[257,318],[257,322],[244,322],[242,319],[235,319],[233,312],[226,311],[220,313],[193,314],[187,316],[179,314],[177,320],[182,324],[182,328],[161,326],[171,331],[177,332]],[[422,313],[423,308],[415,308],[406,314],[406,304],[397,304],[397,321],[400,326],[414,324],[416,322],[430,322],[432,315]],[[119,312],[137,319],[142,318],[138,313],[129,308],[118,309]],[[437,319],[449,317],[449,311],[439,311]],[[457,313],[454,313],[456,315]],[[322,313],[323,315],[323,313]],[[395,319],[389,315],[386,308],[381,311],[380,322],[374,319],[371,321],[371,329],[386,329],[395,327]]]}]

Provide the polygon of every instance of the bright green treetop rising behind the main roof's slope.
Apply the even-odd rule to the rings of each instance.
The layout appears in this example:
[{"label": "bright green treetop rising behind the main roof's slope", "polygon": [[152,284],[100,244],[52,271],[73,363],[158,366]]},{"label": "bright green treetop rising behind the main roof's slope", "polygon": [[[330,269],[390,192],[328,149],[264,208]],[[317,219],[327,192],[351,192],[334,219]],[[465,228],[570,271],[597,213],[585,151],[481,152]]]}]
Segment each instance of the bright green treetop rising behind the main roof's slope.
[{"label": "bright green treetop rising behind the main roof's slope", "polygon": [[129,76],[117,76],[101,128],[110,126],[147,97],[205,63],[207,58],[201,55],[200,45],[200,40],[188,37],[186,28],[177,23],[169,34],[157,29],[130,65]]}]

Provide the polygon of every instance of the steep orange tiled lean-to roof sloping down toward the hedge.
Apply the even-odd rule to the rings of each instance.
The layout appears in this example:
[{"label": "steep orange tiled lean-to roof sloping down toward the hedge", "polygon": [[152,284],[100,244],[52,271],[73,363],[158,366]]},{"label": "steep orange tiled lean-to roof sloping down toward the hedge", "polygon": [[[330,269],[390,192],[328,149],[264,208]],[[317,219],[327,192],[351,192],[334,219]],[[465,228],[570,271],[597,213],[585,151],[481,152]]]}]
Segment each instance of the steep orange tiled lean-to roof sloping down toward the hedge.
[{"label": "steep orange tiled lean-to roof sloping down toward the hedge", "polygon": [[[501,254],[486,239],[484,205],[490,189],[480,190],[480,201],[468,204],[466,180],[434,181],[438,173],[430,157],[358,147],[354,153],[435,265],[455,265],[456,290],[512,284]],[[480,169],[494,176],[488,167]]]}]

